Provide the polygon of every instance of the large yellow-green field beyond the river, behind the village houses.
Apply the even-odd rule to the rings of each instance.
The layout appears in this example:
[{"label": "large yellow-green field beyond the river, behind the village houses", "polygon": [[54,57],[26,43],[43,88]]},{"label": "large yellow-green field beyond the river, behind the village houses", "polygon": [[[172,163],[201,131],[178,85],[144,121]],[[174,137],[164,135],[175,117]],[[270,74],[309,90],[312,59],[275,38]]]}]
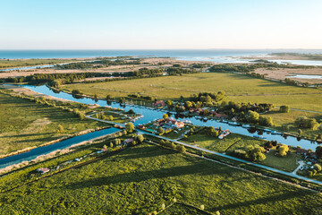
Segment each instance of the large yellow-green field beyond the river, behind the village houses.
[{"label": "large yellow-green field beyond the river, behind the village houses", "polygon": [[267,102],[276,106],[289,105],[292,108],[322,111],[321,90],[289,86],[233,73],[195,73],[143,80],[70,84],[62,89],[80,90],[102,98],[107,94],[125,97],[137,92],[157,99],[179,99],[180,96],[189,97],[194,93],[224,90],[229,100],[237,102]]}]

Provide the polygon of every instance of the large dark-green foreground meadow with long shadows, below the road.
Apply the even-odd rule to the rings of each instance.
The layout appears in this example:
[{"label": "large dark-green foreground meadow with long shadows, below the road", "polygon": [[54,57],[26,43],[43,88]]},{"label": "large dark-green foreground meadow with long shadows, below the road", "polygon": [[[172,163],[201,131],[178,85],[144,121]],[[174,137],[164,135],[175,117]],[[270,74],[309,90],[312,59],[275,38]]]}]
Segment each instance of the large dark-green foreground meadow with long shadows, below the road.
[{"label": "large dark-green foreground meadow with long shadows, below the road", "polygon": [[142,144],[0,193],[0,213],[148,214],[174,197],[221,214],[322,212],[319,193]]}]

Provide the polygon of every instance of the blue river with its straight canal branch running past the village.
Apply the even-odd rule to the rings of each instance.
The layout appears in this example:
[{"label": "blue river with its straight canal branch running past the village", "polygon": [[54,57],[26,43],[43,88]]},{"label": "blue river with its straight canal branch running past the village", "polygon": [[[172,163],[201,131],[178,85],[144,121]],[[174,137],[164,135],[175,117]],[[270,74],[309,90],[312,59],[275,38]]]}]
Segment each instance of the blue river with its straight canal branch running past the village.
[{"label": "blue river with its straight canal branch running past the village", "polygon": [[[80,102],[83,104],[88,104],[88,105],[93,105],[93,104],[97,104],[101,107],[104,107],[107,105],[106,100],[95,100],[95,99],[89,99],[89,98],[81,98],[81,99],[76,99],[74,97],[72,97],[71,94],[60,91],[60,92],[55,92],[53,90],[51,90],[50,88],[48,88],[46,85],[42,85],[42,86],[31,86],[31,85],[21,85],[21,87],[26,88],[26,89],[30,89],[48,96],[53,96],[55,98],[60,98],[60,99],[68,99],[68,100],[72,100],[72,101],[76,101],[76,102]],[[144,116],[142,118],[140,118],[139,120],[137,120],[134,125],[143,125],[148,123],[149,121],[153,121],[155,119],[161,118],[165,113],[168,113],[167,111],[164,110],[157,110],[157,109],[153,109],[153,108],[148,108],[148,107],[142,107],[142,106],[133,106],[133,105],[120,105],[119,103],[116,102],[112,102],[110,104],[108,104],[108,106],[110,107],[119,107],[119,108],[123,108],[125,111],[128,111],[130,109],[134,110],[136,113]],[[168,113],[169,114],[169,113]],[[247,129],[247,128],[243,128],[242,126],[234,126],[234,125],[228,125],[227,123],[223,123],[220,121],[217,121],[215,119],[210,119],[210,120],[204,120],[201,119],[200,117],[187,117],[187,116],[177,116],[174,115],[175,118],[181,118],[180,120],[188,120],[191,121],[191,123],[193,125],[207,125],[207,126],[214,126],[214,127],[221,127],[222,129],[229,129],[232,133],[240,133],[243,135],[247,135],[247,136],[253,136],[255,134],[261,134],[263,137],[265,137],[267,140],[269,141],[277,141],[277,142],[281,142],[287,145],[292,145],[292,146],[301,146],[301,148],[304,149],[311,149],[311,150],[315,150],[316,147],[318,146],[318,142],[311,142],[309,140],[305,140],[305,139],[298,139],[296,137],[293,136],[283,136],[280,134],[272,134],[272,133],[263,133],[263,131],[259,131],[256,129]],[[35,159],[36,157],[38,157],[39,155],[43,155],[43,154],[47,154],[51,151],[54,150],[62,150],[66,147],[71,146],[72,144],[76,144],[79,142],[83,142],[83,141],[89,141],[91,139],[97,138],[99,136],[103,136],[109,133],[114,133],[118,131],[118,129],[116,128],[108,128],[105,130],[101,130],[101,131],[97,131],[94,133],[87,133],[87,134],[83,134],[80,136],[76,136],[76,137],[72,137],[71,139],[62,141],[62,142],[57,142],[54,143],[52,145],[48,145],[48,146],[44,146],[44,147],[38,147],[34,150],[30,150],[28,152],[24,152],[21,154],[17,154],[17,155],[13,155],[4,159],[0,159],[0,168],[5,168],[7,166],[13,165],[13,164],[17,164],[17,163],[21,163],[24,160],[31,160],[31,159]]]}]

